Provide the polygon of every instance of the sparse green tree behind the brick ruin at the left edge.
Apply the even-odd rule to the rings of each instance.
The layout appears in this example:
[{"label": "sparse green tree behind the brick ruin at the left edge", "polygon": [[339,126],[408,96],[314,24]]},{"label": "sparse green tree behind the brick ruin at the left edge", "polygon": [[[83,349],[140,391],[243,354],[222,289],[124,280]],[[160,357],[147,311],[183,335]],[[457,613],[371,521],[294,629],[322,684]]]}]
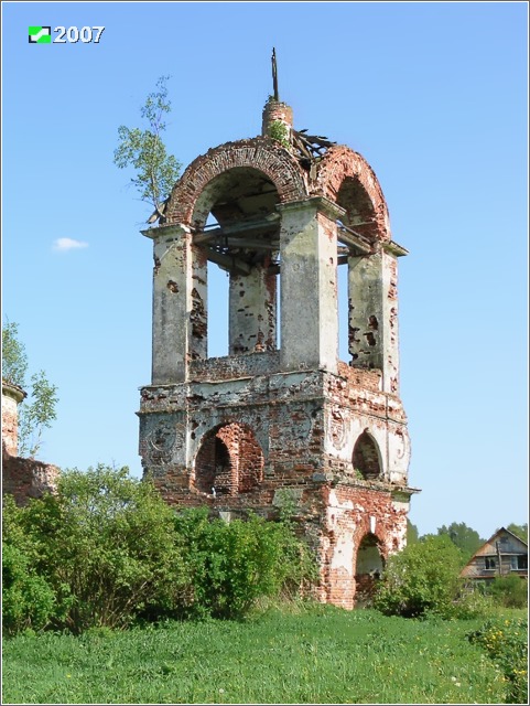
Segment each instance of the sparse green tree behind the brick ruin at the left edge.
[{"label": "sparse green tree behind the brick ruin at the left edge", "polygon": [[24,392],[29,399],[19,406],[19,456],[33,457],[42,446],[45,428],[56,418],[57,387],[52,385],[44,371],[28,378],[28,355],[19,339],[19,324],[7,322],[2,327],[2,378]]}]

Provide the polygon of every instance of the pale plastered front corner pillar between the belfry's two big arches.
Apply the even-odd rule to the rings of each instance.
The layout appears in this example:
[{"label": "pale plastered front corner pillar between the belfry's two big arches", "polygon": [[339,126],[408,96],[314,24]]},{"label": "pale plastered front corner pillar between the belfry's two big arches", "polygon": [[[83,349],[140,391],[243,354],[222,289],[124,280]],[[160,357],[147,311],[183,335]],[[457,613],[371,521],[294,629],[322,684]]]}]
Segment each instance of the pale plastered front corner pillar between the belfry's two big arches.
[{"label": "pale plastered front corner pillar between the belfry's two big arches", "polygon": [[282,215],[282,370],[337,372],[337,225],[343,213],[316,196],[278,206]]}]

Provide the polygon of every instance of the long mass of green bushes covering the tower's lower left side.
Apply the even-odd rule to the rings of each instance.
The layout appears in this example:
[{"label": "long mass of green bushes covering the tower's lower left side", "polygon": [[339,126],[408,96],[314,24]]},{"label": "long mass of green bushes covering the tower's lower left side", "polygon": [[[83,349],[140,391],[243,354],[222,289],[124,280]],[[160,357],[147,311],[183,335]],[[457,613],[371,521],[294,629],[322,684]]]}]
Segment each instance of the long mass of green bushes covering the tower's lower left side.
[{"label": "long mass of green bushes covering the tower's lower left side", "polygon": [[151,482],[98,466],[56,494],[6,502],[3,625],[80,633],[164,618],[239,618],[261,597],[315,576],[294,525],[176,513]]}]

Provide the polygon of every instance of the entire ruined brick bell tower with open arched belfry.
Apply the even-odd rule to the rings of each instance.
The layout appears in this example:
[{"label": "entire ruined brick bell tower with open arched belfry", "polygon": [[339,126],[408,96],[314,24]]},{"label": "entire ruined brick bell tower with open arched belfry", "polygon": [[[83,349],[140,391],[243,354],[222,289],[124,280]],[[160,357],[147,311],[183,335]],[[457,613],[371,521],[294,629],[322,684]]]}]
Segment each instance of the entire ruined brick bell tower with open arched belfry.
[{"label": "entire ruined brick bell tower with open arched belfry", "polygon": [[[317,552],[320,600],[351,608],[404,545],[415,492],[399,396],[398,257],[407,250],[392,240],[369,164],[295,130],[277,86],[261,136],[197,157],[143,231],[154,270],[140,454],[171,504],[272,517],[290,498]],[[207,355],[208,263],[229,276],[223,357]]]}]

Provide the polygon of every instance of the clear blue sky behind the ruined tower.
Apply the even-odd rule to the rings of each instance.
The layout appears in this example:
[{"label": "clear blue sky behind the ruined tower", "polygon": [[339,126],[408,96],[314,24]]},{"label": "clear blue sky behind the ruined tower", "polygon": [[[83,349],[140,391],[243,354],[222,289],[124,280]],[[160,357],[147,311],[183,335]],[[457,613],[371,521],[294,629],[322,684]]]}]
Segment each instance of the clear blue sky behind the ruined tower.
[{"label": "clear blue sky behind the ruined tower", "polygon": [[[98,44],[35,45],[29,25],[105,31]],[[112,163],[118,126],[142,125],[169,74],[166,145],[183,165],[258,135],[272,46],[295,127],[368,160],[410,252],[411,521],[485,538],[527,522],[526,2],[2,3],[2,315],[60,389],[41,458],[141,474],[150,208]],[[223,354],[224,313],[212,318],[210,354]]]}]

